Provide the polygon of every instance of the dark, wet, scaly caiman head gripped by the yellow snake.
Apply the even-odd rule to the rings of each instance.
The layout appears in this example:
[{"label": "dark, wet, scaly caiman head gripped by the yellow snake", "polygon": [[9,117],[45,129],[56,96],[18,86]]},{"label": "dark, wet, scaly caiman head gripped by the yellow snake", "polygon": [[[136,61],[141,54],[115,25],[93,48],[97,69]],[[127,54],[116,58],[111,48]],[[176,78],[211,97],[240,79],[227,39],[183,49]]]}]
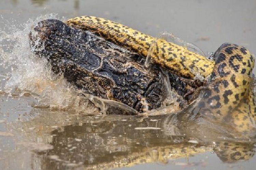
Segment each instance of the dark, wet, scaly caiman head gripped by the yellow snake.
[{"label": "dark, wet, scaly caiman head gripped by the yellow snake", "polygon": [[[161,70],[146,69],[145,59],[138,54],[59,20],[41,21],[34,31],[35,35],[30,34],[34,52],[47,58],[55,73],[62,73],[86,94],[124,103],[138,112],[158,108],[168,97]],[[41,46],[44,49],[38,50]],[[181,108],[186,104],[185,100],[177,102]],[[138,114],[117,109],[111,113]]]}]

